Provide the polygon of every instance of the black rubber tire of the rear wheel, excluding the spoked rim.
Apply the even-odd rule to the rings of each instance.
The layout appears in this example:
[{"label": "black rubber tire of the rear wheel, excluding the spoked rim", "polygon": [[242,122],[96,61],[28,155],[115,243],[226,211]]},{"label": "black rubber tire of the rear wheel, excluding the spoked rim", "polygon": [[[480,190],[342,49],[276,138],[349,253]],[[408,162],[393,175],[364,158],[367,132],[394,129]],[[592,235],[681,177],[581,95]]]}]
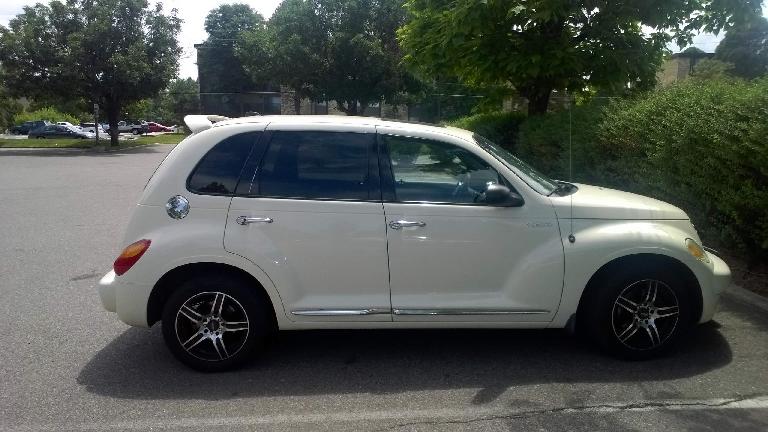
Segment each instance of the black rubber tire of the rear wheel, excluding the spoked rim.
[{"label": "black rubber tire of the rear wheel, excluding the spoked rim", "polygon": [[[171,353],[187,366],[203,372],[235,369],[261,349],[274,324],[269,319],[267,305],[255,288],[241,278],[229,276],[200,276],[183,283],[163,307],[162,331]],[[243,347],[232,357],[221,361],[206,361],[187,353],[176,337],[176,314],[189,298],[202,292],[222,292],[235,298],[248,315],[248,337]]]}]

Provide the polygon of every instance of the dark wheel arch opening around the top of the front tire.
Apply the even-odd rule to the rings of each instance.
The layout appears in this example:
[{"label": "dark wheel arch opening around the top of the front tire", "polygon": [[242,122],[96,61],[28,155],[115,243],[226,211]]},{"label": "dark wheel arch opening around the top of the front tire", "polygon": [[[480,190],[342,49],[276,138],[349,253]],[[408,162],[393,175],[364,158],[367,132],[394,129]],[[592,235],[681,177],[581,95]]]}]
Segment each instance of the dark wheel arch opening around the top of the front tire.
[{"label": "dark wheel arch opening around the top of the front tire", "polygon": [[674,269],[676,272],[679,272],[679,274],[682,275],[683,279],[685,280],[686,289],[688,290],[688,293],[694,302],[693,321],[697,322],[699,320],[703,311],[704,300],[702,298],[699,280],[693,270],[691,270],[690,267],[685,265],[685,263],[682,261],[669,255],[662,255],[657,253],[636,253],[614,258],[611,261],[603,264],[594,274],[592,274],[581,293],[581,297],[579,298],[579,304],[574,317],[576,318],[576,321],[578,321],[578,316],[583,313],[585,299],[589,298],[592,292],[600,288],[600,284],[603,280],[605,280],[614,272],[621,271],[623,268],[632,268],[639,265],[670,268]]}]

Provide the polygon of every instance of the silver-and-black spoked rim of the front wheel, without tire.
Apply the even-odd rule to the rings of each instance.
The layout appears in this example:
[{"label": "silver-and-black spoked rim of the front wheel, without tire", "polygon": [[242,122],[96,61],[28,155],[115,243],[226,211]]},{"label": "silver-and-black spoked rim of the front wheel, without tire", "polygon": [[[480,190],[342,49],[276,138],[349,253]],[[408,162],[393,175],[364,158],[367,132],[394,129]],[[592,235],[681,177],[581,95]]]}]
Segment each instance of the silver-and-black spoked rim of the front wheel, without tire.
[{"label": "silver-and-black spoked rim of the front wheel, without tire", "polygon": [[669,285],[645,279],[624,288],[611,310],[616,339],[627,348],[644,351],[661,346],[675,332],[680,305]]}]

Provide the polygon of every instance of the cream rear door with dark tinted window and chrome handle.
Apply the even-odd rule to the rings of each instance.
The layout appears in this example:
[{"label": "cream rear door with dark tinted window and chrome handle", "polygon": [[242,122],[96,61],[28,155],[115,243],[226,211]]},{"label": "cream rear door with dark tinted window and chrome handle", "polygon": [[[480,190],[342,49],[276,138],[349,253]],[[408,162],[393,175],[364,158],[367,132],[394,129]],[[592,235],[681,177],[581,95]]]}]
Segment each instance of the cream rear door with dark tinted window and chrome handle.
[{"label": "cream rear door with dark tinted window and chrome handle", "polygon": [[225,233],[297,322],[391,321],[375,128],[268,128]]}]

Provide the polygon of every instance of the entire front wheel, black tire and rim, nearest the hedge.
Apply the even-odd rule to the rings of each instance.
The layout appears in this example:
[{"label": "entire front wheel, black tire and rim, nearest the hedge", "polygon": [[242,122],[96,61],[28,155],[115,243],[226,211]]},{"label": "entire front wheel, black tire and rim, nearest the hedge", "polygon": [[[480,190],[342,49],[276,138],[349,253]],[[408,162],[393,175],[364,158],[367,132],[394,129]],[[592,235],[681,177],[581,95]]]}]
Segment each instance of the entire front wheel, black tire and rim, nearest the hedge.
[{"label": "entire front wheel, black tire and rim, nearest the hedge", "polygon": [[662,356],[694,323],[689,287],[667,268],[624,268],[600,278],[585,295],[577,326],[619,358]]}]

